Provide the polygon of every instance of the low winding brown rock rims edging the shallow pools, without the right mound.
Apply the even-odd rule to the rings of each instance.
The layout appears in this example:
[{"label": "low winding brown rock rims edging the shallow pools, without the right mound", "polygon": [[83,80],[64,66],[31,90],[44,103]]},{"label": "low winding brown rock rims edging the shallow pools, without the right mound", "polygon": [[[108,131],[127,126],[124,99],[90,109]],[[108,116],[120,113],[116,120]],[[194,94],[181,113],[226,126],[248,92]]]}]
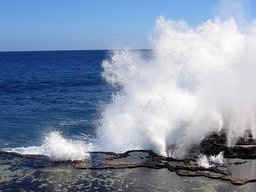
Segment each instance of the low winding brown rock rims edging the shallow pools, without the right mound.
[{"label": "low winding brown rock rims edging the shallow pools, without the right mound", "polygon": [[[130,153],[132,152],[144,152],[148,153],[149,156],[151,157],[149,160],[145,160],[143,163],[131,163],[131,164],[103,164],[100,166],[87,166],[85,165],[84,161],[76,161],[74,162],[75,164],[73,165],[74,168],[76,169],[93,169],[93,170],[99,170],[99,169],[125,169],[125,168],[139,168],[139,167],[146,167],[150,169],[167,169],[170,172],[175,172],[177,175],[182,176],[182,177],[206,177],[209,179],[218,179],[218,180],[223,180],[223,181],[230,181],[233,185],[244,185],[248,182],[256,182],[256,179],[240,179],[240,178],[235,178],[231,172],[221,170],[218,167],[221,166],[216,166],[216,167],[210,167],[210,168],[204,168],[201,166],[191,166],[191,164],[196,165],[196,159],[190,158],[190,159],[185,159],[185,160],[178,160],[174,159],[172,157],[163,157],[163,156],[158,156],[156,155],[153,151],[151,150],[132,150],[125,152],[123,154],[116,154],[116,153],[107,153],[107,155],[111,155],[114,157],[105,157],[106,160],[115,160],[118,158],[126,158],[127,156],[130,156]],[[4,152],[1,151],[1,153],[11,153],[13,155],[17,156],[22,156],[26,158],[38,158],[38,156],[34,155],[22,155],[18,153],[12,153],[12,152]],[[95,153],[95,152],[92,152]],[[97,152],[101,153],[101,152]],[[102,154],[106,154],[103,152]],[[142,155],[137,156],[137,158],[140,158]],[[147,158],[149,158],[147,156]],[[136,156],[135,156],[136,157]],[[146,156],[144,156],[146,157]],[[45,157],[44,157],[45,158]],[[49,160],[49,158],[45,158]],[[235,162],[235,163],[230,163],[234,165],[239,165],[239,164],[244,164],[247,161],[244,162]],[[182,163],[184,165],[172,165],[172,163]],[[47,167],[47,165],[43,164],[32,164],[36,168],[42,168],[42,167]],[[225,167],[225,165],[224,165]]]}]

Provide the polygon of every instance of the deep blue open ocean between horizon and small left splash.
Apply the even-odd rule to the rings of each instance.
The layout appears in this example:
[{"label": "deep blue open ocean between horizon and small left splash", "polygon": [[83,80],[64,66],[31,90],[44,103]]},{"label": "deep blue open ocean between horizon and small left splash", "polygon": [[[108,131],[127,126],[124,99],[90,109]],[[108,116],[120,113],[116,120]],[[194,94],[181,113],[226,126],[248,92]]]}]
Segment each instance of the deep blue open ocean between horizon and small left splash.
[{"label": "deep blue open ocean between horizon and small left splash", "polygon": [[94,135],[112,89],[108,50],[0,52],[0,148],[40,146],[47,130]]}]

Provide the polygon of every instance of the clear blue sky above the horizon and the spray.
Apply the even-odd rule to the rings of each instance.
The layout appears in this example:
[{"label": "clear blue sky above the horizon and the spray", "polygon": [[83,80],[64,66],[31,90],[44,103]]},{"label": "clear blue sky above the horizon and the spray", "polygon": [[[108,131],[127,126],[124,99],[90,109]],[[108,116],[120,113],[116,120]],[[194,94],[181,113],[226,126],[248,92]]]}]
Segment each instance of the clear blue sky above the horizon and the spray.
[{"label": "clear blue sky above the horizon and the spray", "polygon": [[196,26],[220,14],[252,20],[256,1],[0,0],[0,51],[150,48],[160,15]]}]

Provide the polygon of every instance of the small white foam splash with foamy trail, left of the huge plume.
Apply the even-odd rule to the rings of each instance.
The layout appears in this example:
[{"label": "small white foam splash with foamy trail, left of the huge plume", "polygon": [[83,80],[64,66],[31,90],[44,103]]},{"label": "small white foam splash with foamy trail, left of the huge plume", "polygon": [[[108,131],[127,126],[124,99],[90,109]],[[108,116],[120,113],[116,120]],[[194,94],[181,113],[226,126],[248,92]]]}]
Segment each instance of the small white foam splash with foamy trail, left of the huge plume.
[{"label": "small white foam splash with foamy trail, left of the huge plume", "polygon": [[9,152],[21,154],[47,155],[53,161],[74,161],[89,159],[88,151],[92,150],[92,144],[81,140],[65,138],[61,132],[52,131],[46,134],[44,143],[40,147],[4,148]]}]

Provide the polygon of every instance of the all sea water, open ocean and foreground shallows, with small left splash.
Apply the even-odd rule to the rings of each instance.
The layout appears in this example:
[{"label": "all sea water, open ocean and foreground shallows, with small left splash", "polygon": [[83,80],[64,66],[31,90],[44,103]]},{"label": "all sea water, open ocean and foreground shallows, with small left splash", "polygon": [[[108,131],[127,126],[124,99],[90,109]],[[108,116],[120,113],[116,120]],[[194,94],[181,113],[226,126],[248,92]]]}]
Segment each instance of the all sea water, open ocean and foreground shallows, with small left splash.
[{"label": "all sea water, open ocean and foreground shallows, with small left splash", "polygon": [[[144,59],[151,57],[150,50],[139,52]],[[120,86],[110,86],[102,77],[101,63],[110,54],[108,50],[0,52],[0,150],[44,154],[64,161],[83,156],[91,166],[109,163],[104,154],[85,156],[87,151],[97,148],[88,148],[84,143],[98,143],[97,122],[113,100],[112,93],[120,91]],[[142,163],[143,159],[138,157],[143,155],[148,158],[146,153],[132,152],[124,160],[116,161]],[[234,163],[237,159],[224,161]],[[80,170],[69,161],[60,163],[14,154],[2,154],[0,162],[0,191],[254,191],[255,188],[255,183],[235,186],[204,177],[183,178],[166,169]],[[35,168],[31,165],[35,163],[48,167]],[[244,178],[248,177],[244,170],[254,166],[255,160],[228,170]],[[252,172],[250,177],[253,176]]]}]

